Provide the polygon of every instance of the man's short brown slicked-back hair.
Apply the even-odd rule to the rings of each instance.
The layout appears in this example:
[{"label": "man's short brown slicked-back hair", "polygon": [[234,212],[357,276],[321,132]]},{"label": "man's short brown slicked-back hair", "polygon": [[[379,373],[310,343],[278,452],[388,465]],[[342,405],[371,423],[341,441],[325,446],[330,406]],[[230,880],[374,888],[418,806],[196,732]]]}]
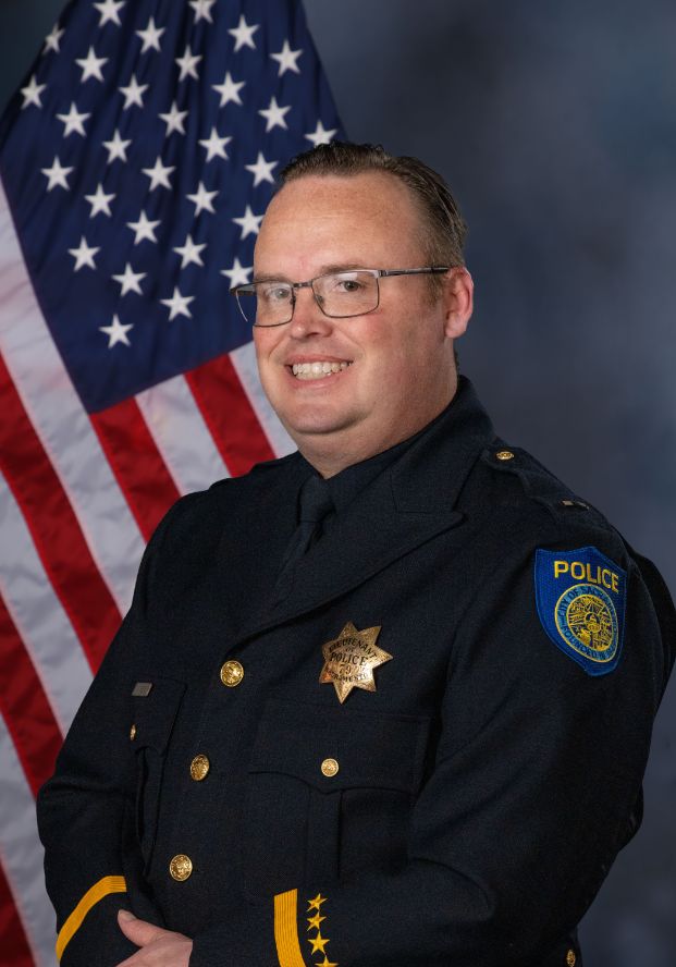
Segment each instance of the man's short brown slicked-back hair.
[{"label": "man's short brown slicked-back hair", "polygon": [[423,245],[433,266],[464,266],[467,225],[448,185],[418,158],[389,155],[382,145],[331,142],[293,158],[279,174],[280,186],[306,175],[355,175],[384,171],[408,187],[422,215]]}]

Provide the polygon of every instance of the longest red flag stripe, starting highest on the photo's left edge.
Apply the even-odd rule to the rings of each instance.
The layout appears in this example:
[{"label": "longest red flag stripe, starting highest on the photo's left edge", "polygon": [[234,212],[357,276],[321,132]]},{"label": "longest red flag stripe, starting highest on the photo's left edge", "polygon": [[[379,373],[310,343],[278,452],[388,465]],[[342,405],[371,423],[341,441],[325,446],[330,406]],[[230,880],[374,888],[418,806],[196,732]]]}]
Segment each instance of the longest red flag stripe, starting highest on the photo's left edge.
[{"label": "longest red flag stripe, starting highest on the photo's left edge", "polygon": [[0,469],[22,509],[45,571],[96,671],[120,612],[73,507],[0,357]]}]

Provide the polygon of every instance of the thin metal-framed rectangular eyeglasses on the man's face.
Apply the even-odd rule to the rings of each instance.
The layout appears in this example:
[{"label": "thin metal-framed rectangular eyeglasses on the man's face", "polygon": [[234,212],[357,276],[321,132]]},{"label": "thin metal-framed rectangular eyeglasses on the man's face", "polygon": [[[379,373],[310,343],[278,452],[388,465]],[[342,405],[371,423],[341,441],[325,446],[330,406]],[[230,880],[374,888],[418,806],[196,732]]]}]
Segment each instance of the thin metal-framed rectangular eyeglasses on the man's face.
[{"label": "thin metal-framed rectangular eyeglasses on the man's face", "polygon": [[348,319],[372,313],[380,304],[379,279],[389,276],[425,276],[447,272],[448,266],[421,269],[347,269],[327,272],[307,282],[250,282],[230,290],[239,311],[251,326],[284,326],[291,322],[299,289],[311,289],[315,302],[331,319]]}]

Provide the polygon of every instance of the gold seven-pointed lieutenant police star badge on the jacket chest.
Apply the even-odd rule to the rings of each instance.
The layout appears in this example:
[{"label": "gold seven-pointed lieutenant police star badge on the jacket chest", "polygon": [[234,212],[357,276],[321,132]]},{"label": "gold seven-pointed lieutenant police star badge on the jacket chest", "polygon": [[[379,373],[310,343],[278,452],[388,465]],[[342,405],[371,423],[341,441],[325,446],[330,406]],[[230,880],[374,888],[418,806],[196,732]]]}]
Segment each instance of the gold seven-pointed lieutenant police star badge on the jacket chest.
[{"label": "gold seven-pointed lieutenant police star badge on the jacket chest", "polygon": [[353,688],[376,691],[373,669],[392,658],[376,645],[380,627],[358,632],[348,621],[337,638],[322,645],[324,666],[319,681],[322,685],[327,682],[333,684],[341,705]]}]

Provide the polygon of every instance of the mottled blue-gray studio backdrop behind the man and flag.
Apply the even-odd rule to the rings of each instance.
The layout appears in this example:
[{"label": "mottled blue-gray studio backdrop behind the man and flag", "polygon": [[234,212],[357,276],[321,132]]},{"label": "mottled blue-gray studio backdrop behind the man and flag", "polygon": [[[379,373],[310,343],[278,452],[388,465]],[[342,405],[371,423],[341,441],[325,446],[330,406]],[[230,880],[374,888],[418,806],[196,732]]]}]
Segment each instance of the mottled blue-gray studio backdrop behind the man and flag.
[{"label": "mottled blue-gray studio backdrop behind the man and flag", "polygon": [[[63,5],[0,2],[0,107]],[[462,369],[499,432],[674,591],[674,0],[305,7],[352,139],[420,156],[458,196],[477,285]],[[644,825],[583,923],[587,967],[676,963],[675,722],[672,685]]]}]

